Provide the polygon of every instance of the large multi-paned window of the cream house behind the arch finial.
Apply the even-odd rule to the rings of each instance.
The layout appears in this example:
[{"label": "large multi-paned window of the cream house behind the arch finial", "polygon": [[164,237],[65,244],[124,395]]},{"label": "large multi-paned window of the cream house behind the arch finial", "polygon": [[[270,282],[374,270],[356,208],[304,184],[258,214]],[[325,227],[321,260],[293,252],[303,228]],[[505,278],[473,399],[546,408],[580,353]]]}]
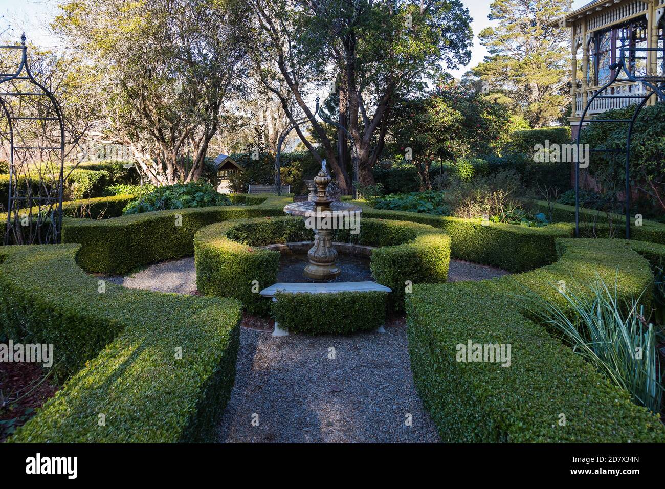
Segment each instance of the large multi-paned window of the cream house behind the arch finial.
[{"label": "large multi-paned window of the cream house behind the arch finial", "polygon": [[595,33],[589,43],[589,71],[587,84],[600,86],[607,84],[614,75],[610,66],[619,61],[622,43],[637,51],[626,51],[626,65],[631,73],[646,74],[646,51],[648,28],[646,18],[642,17],[630,23],[612,27]]}]

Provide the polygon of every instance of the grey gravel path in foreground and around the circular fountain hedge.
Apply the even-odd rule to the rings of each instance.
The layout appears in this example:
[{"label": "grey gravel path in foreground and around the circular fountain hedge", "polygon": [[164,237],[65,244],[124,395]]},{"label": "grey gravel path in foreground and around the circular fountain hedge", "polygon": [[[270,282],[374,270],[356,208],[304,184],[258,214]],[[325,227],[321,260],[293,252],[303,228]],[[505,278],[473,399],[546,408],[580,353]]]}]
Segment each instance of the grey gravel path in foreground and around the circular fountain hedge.
[{"label": "grey gravel path in foreground and around the circular fountain hedge", "polygon": [[[450,262],[450,281],[507,272]],[[157,263],[108,281],[134,289],[196,293],[194,258]],[[416,394],[404,318],[385,333],[273,337],[271,323],[245,317],[235,386],[220,442],[438,442]]]}]

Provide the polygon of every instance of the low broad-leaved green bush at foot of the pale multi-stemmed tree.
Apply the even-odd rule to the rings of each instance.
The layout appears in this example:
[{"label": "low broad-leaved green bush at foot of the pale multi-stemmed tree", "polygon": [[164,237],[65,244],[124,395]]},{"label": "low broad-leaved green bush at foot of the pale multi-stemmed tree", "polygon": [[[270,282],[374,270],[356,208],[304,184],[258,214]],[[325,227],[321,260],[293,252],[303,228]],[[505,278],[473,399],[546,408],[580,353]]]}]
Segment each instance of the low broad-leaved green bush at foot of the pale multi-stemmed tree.
[{"label": "low broad-leaved green bush at foot of the pale multi-stemmed tree", "polygon": [[230,205],[231,200],[225,194],[217,192],[211,184],[190,182],[157,187],[129,204],[125,209],[125,214]]}]

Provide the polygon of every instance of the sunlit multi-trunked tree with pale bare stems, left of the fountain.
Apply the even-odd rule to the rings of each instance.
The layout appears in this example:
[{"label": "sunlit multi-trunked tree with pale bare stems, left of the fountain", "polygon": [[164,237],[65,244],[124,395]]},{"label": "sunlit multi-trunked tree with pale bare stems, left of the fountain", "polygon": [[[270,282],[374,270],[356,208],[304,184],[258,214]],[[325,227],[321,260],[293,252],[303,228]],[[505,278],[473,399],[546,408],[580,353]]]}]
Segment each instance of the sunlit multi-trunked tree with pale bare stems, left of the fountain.
[{"label": "sunlit multi-trunked tree with pale bare stems, left of the fountain", "polygon": [[106,74],[109,137],[161,185],[201,175],[245,59],[245,19],[232,0],[75,0],[53,27]]}]

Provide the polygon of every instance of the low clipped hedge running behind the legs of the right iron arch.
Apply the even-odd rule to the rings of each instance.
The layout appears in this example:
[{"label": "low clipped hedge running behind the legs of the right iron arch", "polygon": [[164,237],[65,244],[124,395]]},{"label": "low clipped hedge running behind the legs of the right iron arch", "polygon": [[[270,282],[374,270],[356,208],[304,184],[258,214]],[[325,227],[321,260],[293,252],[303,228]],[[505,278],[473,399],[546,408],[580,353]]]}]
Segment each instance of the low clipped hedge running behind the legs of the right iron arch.
[{"label": "low clipped hedge running behind the legs of the right iron arch", "polygon": [[[535,200],[535,206],[548,216],[550,214],[549,206],[545,200]],[[553,204],[552,218],[554,222],[575,222],[575,206],[565,206],[563,204]],[[634,212],[637,214],[637,212]],[[633,214],[633,218],[634,218]],[[584,232],[597,224],[600,231],[607,229],[609,220],[612,220],[612,226],[616,236],[620,238],[626,237],[626,220],[625,216],[620,214],[612,214],[602,212],[595,209],[580,208],[580,230]],[[643,220],[642,226],[635,226],[634,220],[630,226],[630,237],[633,240],[648,241],[652,243],[665,244],[665,224],[655,221]]]}]

